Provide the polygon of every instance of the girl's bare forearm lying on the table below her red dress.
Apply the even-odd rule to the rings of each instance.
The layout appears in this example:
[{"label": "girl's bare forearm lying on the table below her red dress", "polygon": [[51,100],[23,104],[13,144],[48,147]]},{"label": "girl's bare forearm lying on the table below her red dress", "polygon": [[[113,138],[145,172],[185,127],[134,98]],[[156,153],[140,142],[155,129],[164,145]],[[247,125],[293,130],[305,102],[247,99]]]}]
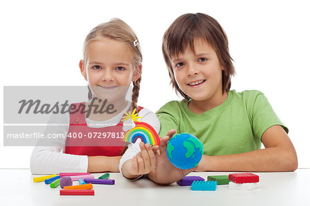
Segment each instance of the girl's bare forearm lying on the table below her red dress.
[{"label": "girl's bare forearm lying on the table below her red dress", "polygon": [[88,157],[87,172],[119,172],[118,165],[121,156],[105,157],[92,156]]}]

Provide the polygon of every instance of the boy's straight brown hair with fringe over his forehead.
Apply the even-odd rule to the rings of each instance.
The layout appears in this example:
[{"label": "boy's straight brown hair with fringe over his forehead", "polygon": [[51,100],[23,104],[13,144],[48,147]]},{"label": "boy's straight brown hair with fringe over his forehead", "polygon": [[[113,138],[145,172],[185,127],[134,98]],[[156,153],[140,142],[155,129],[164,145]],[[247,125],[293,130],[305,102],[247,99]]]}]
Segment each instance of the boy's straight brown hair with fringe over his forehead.
[{"label": "boy's straight brown hair with fringe over his forehead", "polygon": [[222,92],[228,92],[231,87],[231,76],[234,76],[235,73],[234,65],[231,61],[233,59],[229,54],[228,39],[218,21],[202,13],[179,16],[169,26],[163,36],[163,56],[169,71],[172,87],[176,90],[176,93],[180,93],[185,99],[189,100],[190,97],[183,93],[178,84],[176,84],[171,57],[183,54],[188,45],[192,52],[195,53],[194,40],[196,38],[207,41],[214,48],[220,65],[224,68],[222,71]]}]

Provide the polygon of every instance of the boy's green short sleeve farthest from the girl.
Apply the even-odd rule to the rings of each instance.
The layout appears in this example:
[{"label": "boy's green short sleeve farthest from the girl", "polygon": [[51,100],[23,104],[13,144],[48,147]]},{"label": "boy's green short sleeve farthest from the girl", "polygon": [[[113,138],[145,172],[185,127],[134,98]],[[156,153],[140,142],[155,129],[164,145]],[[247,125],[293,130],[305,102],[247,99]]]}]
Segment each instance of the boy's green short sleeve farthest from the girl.
[{"label": "boy's green short sleeve farthest from the girl", "polygon": [[251,106],[250,116],[256,138],[261,140],[262,134],[265,133],[269,127],[274,125],[282,126],[282,128],[289,133],[289,129],[273,111],[264,93],[257,91],[256,96],[251,98],[251,100],[254,100],[254,102],[251,103],[253,106]]}]

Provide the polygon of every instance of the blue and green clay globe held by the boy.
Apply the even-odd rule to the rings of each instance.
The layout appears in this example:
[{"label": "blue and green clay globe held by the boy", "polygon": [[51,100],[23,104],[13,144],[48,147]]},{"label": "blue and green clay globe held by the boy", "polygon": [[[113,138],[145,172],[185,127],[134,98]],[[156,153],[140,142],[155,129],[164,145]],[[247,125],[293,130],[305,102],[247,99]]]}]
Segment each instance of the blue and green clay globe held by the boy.
[{"label": "blue and green clay globe held by the boy", "polygon": [[167,156],[176,168],[187,170],[196,167],[203,152],[203,143],[189,133],[174,135],[168,141]]}]

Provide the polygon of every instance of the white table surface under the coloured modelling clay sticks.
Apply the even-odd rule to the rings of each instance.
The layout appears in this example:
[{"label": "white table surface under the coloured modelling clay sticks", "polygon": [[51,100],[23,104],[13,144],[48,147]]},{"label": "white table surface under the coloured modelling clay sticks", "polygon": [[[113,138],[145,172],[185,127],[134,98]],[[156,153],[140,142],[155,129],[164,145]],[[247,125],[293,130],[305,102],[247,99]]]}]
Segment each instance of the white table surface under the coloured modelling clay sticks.
[{"label": "white table surface under the coloured modelling clay sticks", "polygon": [[[227,175],[235,172],[192,172],[189,175]],[[30,170],[0,169],[0,205],[310,205],[310,169],[295,172],[253,172],[260,176],[255,190],[192,191],[190,186],[156,185],[149,179],[127,181],[110,173],[115,185],[94,185],[94,196],[60,196],[60,187],[34,183]],[[94,173],[98,178],[104,173]],[[78,182],[74,182],[74,185]]]}]

